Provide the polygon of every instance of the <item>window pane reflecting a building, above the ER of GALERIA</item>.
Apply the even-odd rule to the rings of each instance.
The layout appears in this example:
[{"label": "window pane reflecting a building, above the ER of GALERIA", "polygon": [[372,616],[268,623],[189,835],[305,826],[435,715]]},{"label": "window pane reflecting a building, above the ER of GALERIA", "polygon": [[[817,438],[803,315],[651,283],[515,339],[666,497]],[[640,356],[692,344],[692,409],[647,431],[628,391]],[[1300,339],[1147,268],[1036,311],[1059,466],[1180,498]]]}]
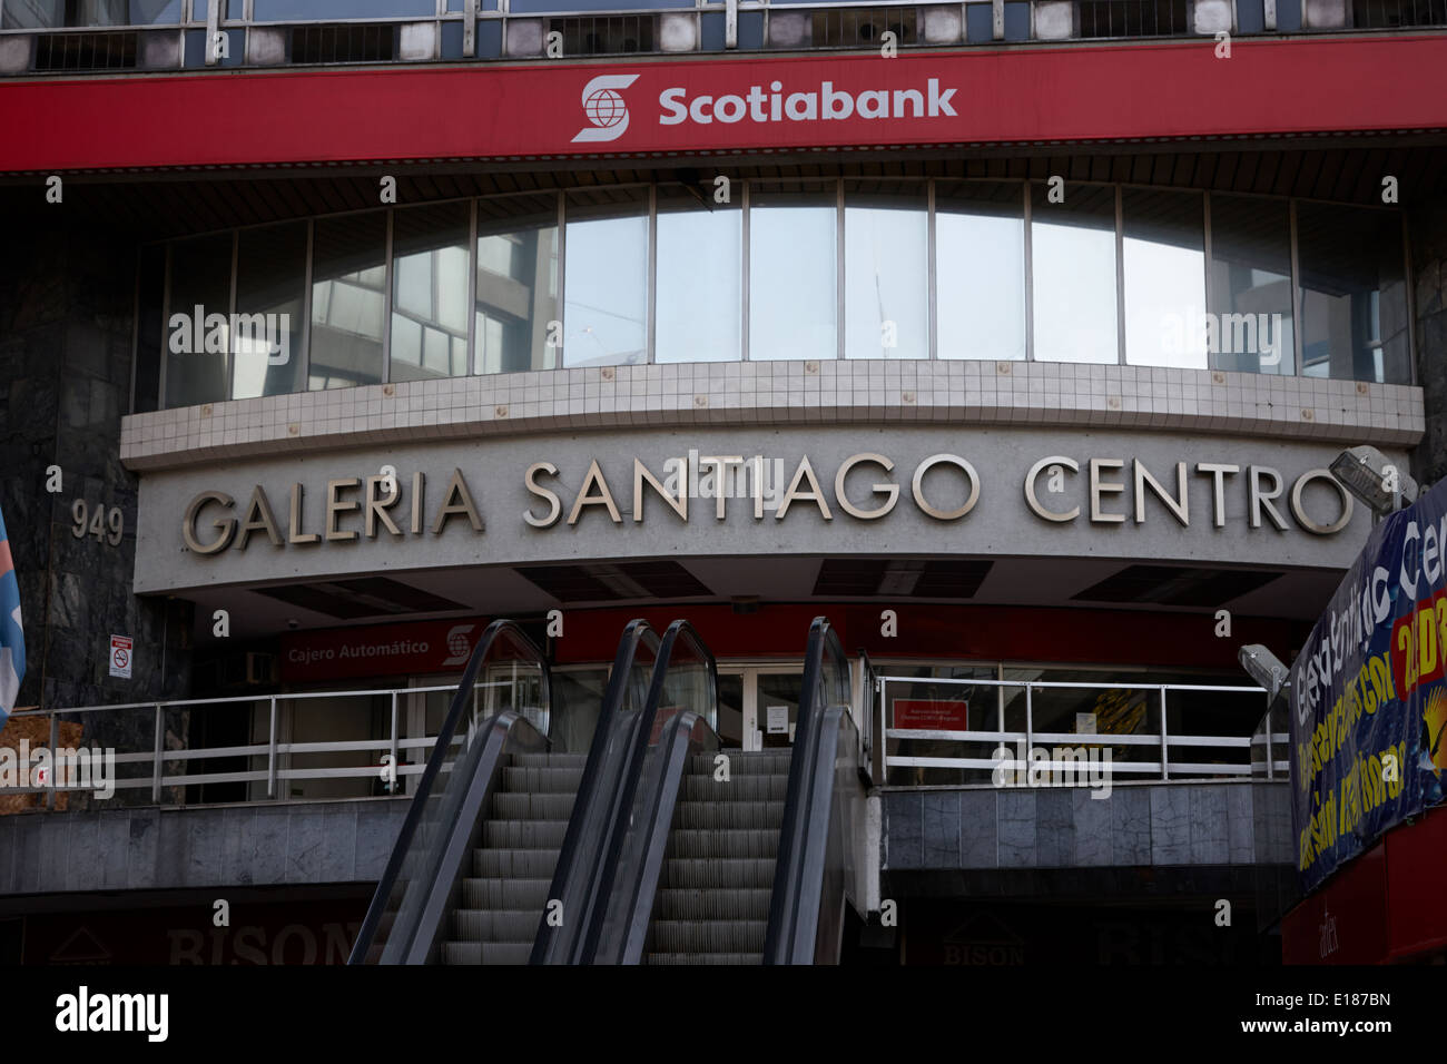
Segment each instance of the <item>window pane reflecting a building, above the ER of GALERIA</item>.
[{"label": "window pane reflecting a building, above the ER of GALERIA", "polygon": [[308,387],[382,384],[386,211],[321,219],[311,259]]}]

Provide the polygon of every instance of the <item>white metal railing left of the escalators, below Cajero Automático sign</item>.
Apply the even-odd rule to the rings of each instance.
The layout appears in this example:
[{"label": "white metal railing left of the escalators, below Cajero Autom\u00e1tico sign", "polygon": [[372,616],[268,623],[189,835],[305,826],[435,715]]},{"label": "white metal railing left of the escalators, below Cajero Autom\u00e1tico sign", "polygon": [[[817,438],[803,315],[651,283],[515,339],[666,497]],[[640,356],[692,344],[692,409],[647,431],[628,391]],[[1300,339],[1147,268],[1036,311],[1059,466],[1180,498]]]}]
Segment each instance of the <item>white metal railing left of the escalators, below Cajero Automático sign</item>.
[{"label": "white metal railing left of the escalators, below Cajero Autom\u00e1tico sign", "polygon": [[[489,705],[488,692],[501,692],[514,688],[517,679],[508,676],[488,677],[479,680],[473,688],[475,717],[491,715],[498,706]],[[207,805],[214,802],[236,801],[275,801],[279,795],[279,785],[305,780],[373,780],[375,786],[366,790],[379,789],[383,793],[357,795],[317,795],[317,801],[336,798],[386,798],[392,795],[410,793],[405,780],[420,776],[427,769],[427,757],[437,741],[436,734],[427,734],[425,708],[423,709],[423,734],[408,734],[402,727],[401,712],[408,696],[425,696],[433,692],[454,693],[457,685],[425,686],[425,688],[382,688],[369,691],[317,691],[301,693],[234,696],[234,698],[192,698],[168,702],[124,702],[119,705],[80,706],[71,709],[23,709],[12,714],[13,719],[42,718],[49,721],[49,750],[101,750],[106,753],[107,764],[113,766],[111,783],[114,793],[110,798],[100,798],[94,788],[71,786],[71,780],[62,777],[59,772],[51,772],[42,786],[33,782],[29,786],[0,786],[0,798],[10,795],[45,795],[45,806],[54,809],[58,795],[68,795],[69,808],[77,808],[74,799],[82,796],[82,808],[110,808],[114,805]],[[331,741],[289,741],[284,740],[284,718],[294,718],[308,702],[317,699],[388,699],[389,724],[385,734],[369,738],[331,740]],[[424,702],[425,705],[425,702]],[[247,727],[255,735],[256,725],[265,714],[265,738],[250,743],[201,746],[195,744],[194,735],[204,734],[203,715],[207,711],[242,709],[250,706]],[[373,705],[360,705],[360,711],[368,712]],[[547,734],[548,709],[540,712],[530,711],[537,717],[534,725]],[[62,734],[62,725],[81,725],[78,737]],[[234,724],[234,721],[233,721]],[[145,737],[142,738],[142,732]],[[453,743],[462,743],[464,737],[454,737]],[[204,740],[203,740],[204,741]],[[32,744],[33,750],[35,744]],[[343,766],[300,766],[294,761],[307,760],[308,756],[328,754],[370,754],[370,757],[356,757],[352,760],[366,761]],[[54,754],[52,754],[54,757]],[[208,769],[195,766],[197,761],[211,759],[250,759],[246,769]],[[22,766],[22,779],[32,779],[30,764]],[[194,767],[195,766],[195,767]],[[195,770],[195,769],[200,770]],[[446,769],[444,769],[446,772]],[[227,796],[221,799],[200,799],[188,802],[187,788],[240,783],[246,785],[245,798]],[[265,785],[260,793],[258,785]],[[360,790],[360,789],[359,789]],[[140,801],[136,801],[139,796]],[[291,796],[297,801],[295,796]],[[127,801],[129,799],[129,801]],[[300,801],[310,801],[301,796]]]}]

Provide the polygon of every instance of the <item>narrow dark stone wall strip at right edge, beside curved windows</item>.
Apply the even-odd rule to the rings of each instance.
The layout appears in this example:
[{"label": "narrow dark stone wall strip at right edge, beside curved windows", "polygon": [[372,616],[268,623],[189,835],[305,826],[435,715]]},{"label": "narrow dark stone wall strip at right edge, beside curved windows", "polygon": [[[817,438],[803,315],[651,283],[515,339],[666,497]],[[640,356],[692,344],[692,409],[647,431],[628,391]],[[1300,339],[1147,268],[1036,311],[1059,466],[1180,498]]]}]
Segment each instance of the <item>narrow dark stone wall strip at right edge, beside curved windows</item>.
[{"label": "narrow dark stone wall strip at right edge, beside curved windows", "polygon": [[1408,239],[1417,281],[1417,382],[1427,414],[1412,475],[1427,486],[1447,476],[1447,207],[1409,211]]}]

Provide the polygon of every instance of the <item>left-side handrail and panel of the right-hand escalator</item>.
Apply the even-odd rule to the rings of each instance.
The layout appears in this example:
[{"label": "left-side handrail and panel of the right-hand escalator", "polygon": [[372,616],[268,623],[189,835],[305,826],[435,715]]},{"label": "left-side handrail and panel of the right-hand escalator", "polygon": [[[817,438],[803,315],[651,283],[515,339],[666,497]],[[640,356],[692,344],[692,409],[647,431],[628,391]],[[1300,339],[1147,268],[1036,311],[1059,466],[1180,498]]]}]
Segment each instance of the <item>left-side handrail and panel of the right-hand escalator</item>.
[{"label": "left-side handrail and panel of the right-hand escalator", "polygon": [[[631,767],[619,780],[615,821],[609,829],[611,841],[602,876],[606,889],[598,899],[596,911],[589,913],[587,928],[585,928],[582,955],[583,963],[587,964],[596,963],[599,958],[624,964],[640,961],[687,759],[696,753],[695,747],[718,747],[718,734],[700,708],[684,706],[664,725],[650,759],[653,722],[658,717],[658,704],[663,701],[667,673],[673,664],[673,649],[680,640],[690,646],[697,656],[697,663],[703,664],[705,682],[708,689],[713,692],[713,706],[718,706],[718,662],[713,651],[689,621],[677,620],[669,625],[658,644],[658,660],[654,663],[653,680],[648,685],[648,701],[640,714],[638,730],[634,735]],[[695,737],[699,727],[703,728],[702,738]],[[634,805],[640,796],[640,786],[645,788],[645,793],[641,795],[644,806],[637,811],[638,815],[634,819]],[[624,850],[629,841],[634,843],[631,853],[634,860],[624,866]],[[619,896],[618,905],[611,906],[609,903],[618,892],[624,893]],[[603,935],[611,908],[622,913],[618,921],[621,941],[605,942]]]}]

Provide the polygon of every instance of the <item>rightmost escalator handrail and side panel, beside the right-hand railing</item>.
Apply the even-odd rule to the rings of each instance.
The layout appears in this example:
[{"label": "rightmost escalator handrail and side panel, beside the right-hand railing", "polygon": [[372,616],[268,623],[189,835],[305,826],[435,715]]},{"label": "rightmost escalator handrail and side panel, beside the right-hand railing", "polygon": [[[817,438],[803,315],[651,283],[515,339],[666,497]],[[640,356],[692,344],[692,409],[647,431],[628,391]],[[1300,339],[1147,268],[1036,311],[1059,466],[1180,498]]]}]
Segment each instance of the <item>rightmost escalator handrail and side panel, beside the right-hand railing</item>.
[{"label": "rightmost escalator handrail and side panel, beside the right-hand railing", "polygon": [[[820,759],[828,754],[833,764],[832,734],[820,735],[831,706],[825,692],[825,651],[832,650],[844,662],[844,646],[828,618],[816,617],[809,625],[809,646],[805,650],[805,675],[799,696],[799,724],[794,731],[794,751],[789,764],[789,789],[784,798],[784,818],[778,831],[778,854],[774,866],[774,889],[768,900],[768,931],[764,937],[764,964],[807,964],[813,960],[812,940],[818,918],[818,899],[806,905],[806,879],[822,874],[815,864],[810,834],[828,832],[828,805],[823,824],[818,819],[818,792],[833,786],[832,773],[819,780]],[[848,718],[848,714],[845,714]],[[852,722],[852,719],[851,719]],[[828,746],[825,751],[822,747]],[[809,909],[813,909],[810,913]],[[807,940],[802,942],[800,940]],[[807,945],[807,948],[802,948]],[[807,954],[807,955],[805,955]]]}]

